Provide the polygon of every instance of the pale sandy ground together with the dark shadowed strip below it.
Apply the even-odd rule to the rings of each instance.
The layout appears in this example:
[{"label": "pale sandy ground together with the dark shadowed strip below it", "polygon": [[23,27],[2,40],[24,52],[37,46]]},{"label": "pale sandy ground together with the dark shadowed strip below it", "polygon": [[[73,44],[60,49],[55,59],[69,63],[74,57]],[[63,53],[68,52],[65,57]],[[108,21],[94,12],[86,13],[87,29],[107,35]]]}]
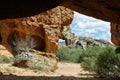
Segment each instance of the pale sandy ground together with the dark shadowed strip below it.
[{"label": "pale sandy ground together with the dark shadowed strip below it", "polygon": [[0,63],[0,71],[0,80],[106,80],[93,77],[93,74],[84,71],[80,64],[75,63],[59,62],[58,69],[54,72],[35,71]]}]

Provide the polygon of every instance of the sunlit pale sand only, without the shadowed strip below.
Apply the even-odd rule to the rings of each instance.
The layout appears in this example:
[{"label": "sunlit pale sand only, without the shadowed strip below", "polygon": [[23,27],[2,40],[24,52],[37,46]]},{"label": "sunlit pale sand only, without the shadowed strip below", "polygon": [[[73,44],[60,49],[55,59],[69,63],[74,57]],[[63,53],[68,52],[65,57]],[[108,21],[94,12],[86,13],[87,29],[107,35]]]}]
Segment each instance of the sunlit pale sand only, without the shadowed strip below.
[{"label": "sunlit pale sand only, without the shadowed strip below", "polygon": [[[87,71],[84,71],[80,68],[80,64],[75,63],[58,63],[58,69],[54,72],[48,71],[39,71],[39,70],[30,70],[28,68],[18,68],[14,67],[11,64],[0,64],[0,70],[5,75],[13,74],[17,76],[75,76],[79,77],[80,74],[90,74]],[[82,76],[84,77],[84,76]],[[90,76],[89,76],[90,77]],[[92,77],[92,76],[91,76]]]}]

